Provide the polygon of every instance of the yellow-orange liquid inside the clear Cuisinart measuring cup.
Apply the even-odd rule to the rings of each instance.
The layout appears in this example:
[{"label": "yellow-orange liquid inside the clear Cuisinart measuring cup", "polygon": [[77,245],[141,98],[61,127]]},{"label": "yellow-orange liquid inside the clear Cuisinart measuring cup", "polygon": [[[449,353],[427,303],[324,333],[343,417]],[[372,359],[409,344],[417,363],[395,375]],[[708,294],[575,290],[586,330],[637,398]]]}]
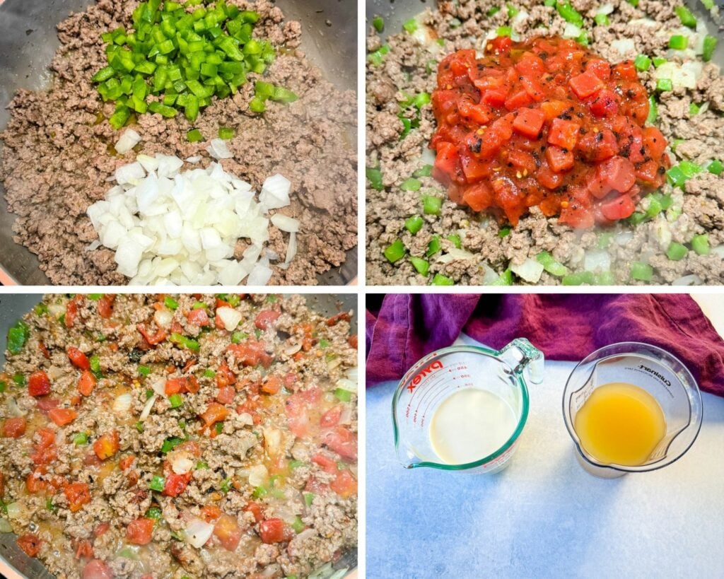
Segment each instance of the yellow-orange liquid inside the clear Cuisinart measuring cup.
[{"label": "yellow-orange liquid inside the clear Cuisinart measuring cup", "polygon": [[599,462],[644,464],[666,433],[659,403],[646,390],[612,382],[595,389],[573,420],[581,445]]}]

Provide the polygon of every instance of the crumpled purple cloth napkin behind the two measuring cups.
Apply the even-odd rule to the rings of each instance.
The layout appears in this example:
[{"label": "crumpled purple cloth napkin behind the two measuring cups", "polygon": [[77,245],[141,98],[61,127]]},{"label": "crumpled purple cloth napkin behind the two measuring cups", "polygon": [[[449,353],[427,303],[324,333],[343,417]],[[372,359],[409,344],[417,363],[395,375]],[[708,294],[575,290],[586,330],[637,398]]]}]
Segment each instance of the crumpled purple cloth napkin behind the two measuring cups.
[{"label": "crumpled purple cloth napkin behind the two measuring cups", "polygon": [[550,360],[645,342],[679,358],[699,388],[724,396],[724,341],[688,295],[390,294],[366,318],[368,386],[399,380],[464,332],[496,350],[528,338]]}]

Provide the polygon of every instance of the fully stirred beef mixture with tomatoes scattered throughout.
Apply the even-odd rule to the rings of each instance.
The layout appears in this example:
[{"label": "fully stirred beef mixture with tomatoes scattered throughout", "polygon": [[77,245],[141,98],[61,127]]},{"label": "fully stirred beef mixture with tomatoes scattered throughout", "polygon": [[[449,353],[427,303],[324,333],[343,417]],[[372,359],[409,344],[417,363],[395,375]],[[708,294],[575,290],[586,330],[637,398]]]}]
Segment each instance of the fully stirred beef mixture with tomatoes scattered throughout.
[{"label": "fully stirred beef mixture with tomatoes scattered throughout", "polygon": [[293,295],[46,296],[0,373],[0,525],[60,578],[303,577],[357,537],[357,341]]}]

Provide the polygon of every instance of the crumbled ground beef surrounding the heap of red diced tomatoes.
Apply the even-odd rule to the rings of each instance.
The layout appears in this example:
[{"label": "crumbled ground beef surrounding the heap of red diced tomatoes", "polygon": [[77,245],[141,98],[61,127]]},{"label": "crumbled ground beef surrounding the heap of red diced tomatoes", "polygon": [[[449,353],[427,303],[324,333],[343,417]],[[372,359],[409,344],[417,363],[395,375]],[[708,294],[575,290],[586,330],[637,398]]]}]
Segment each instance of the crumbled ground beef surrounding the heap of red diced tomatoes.
[{"label": "crumbled ground beef surrounding the heap of red diced tomatoes", "polygon": [[[661,30],[678,28],[681,23],[673,9],[679,0],[641,0],[633,7],[626,0],[613,0],[614,12],[609,14],[610,26],[594,25],[593,17],[599,3],[574,0],[573,6],[584,16],[584,29],[589,33],[590,48],[618,62],[636,54],[668,56],[669,33]],[[527,16],[514,25],[521,38],[536,34],[560,35],[565,20],[555,6],[547,7],[541,1],[513,0],[508,6],[522,9]],[[505,7],[492,16],[489,9],[500,7],[493,0],[439,1],[437,9],[426,9],[418,15],[418,32],[397,33],[384,41],[370,27],[367,37],[369,51],[383,44],[390,51],[382,56],[382,63],[368,59],[366,70],[366,166],[382,172],[382,190],[366,190],[367,213],[367,281],[370,284],[429,284],[435,274],[452,278],[456,284],[487,284],[510,266],[526,258],[535,258],[541,251],[568,266],[569,271],[583,271],[586,255],[603,250],[610,261],[610,274],[616,284],[642,284],[631,279],[631,263],[644,261],[654,268],[653,284],[694,282],[724,283],[721,248],[709,255],[689,251],[681,261],[671,261],[665,255],[668,244],[689,243],[696,234],[708,234],[710,245],[724,244],[724,175],[716,177],[702,172],[686,183],[686,190],[662,187],[670,194],[673,205],[655,219],[636,227],[619,222],[613,227],[584,232],[557,224],[547,219],[536,208],[523,217],[518,225],[502,229],[501,225],[485,214],[475,214],[447,199],[447,194],[433,177],[417,177],[421,181],[418,191],[404,191],[400,185],[426,164],[432,164],[429,151],[424,152],[434,132],[432,106],[421,109],[419,127],[400,140],[404,126],[400,114],[414,119],[416,111],[408,107],[401,111],[399,103],[416,93],[432,93],[436,88],[437,63],[447,54],[462,48],[481,50],[482,42],[490,30],[510,25]],[[644,22],[644,17],[657,20],[655,25]],[[717,10],[712,13],[718,19]],[[386,31],[387,32],[387,31]],[[710,34],[713,32],[710,28]],[[429,41],[421,41],[424,34]],[[720,33],[717,33],[720,36]],[[631,54],[619,54],[612,46],[617,38],[631,38],[635,49]],[[650,92],[655,80],[652,70],[641,73],[641,80]],[[678,89],[661,93],[657,126],[668,142],[676,140],[673,163],[680,160],[704,164],[712,159],[724,159],[724,78],[719,67],[704,64],[702,77],[693,90]],[[702,107],[699,114],[691,114],[689,105]],[[683,140],[678,142],[678,140]],[[443,198],[439,216],[422,214],[421,194]],[[649,201],[641,200],[637,211],[646,211]],[[405,219],[422,215],[424,227],[411,234],[404,227]],[[430,240],[437,235],[442,251],[426,258]],[[460,237],[463,250],[471,253],[466,258],[446,255],[454,245],[447,237]],[[390,263],[384,250],[395,240],[403,241],[408,255],[429,259],[429,273],[418,274],[407,258]],[[441,259],[442,258],[442,259]],[[600,270],[597,270],[600,271]],[[514,278],[515,283],[524,284]],[[542,274],[539,284],[560,284],[560,276]]]}]

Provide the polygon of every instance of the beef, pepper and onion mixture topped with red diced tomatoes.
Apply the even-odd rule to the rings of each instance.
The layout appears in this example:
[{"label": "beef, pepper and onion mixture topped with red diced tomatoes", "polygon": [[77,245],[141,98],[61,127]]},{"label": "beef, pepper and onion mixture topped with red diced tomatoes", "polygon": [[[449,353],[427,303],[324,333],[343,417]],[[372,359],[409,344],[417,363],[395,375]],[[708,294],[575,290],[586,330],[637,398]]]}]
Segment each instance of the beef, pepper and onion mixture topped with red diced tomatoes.
[{"label": "beef, pepper and onion mixture topped with red diced tomatoes", "polygon": [[702,8],[439,1],[384,40],[374,18],[369,282],[724,283],[721,19]]}]

